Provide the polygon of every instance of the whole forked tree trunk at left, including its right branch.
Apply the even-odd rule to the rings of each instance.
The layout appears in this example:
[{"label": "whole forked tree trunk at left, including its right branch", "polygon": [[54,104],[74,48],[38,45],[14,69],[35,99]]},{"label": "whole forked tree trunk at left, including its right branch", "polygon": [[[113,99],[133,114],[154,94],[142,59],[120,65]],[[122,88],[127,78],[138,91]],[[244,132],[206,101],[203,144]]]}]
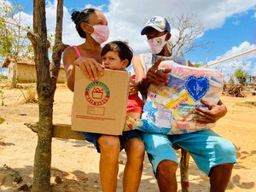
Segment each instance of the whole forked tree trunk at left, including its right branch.
[{"label": "whole forked tree trunk at left, including its right branch", "polygon": [[45,0],[33,0],[33,6],[33,33],[28,32],[27,37],[32,42],[35,55],[39,119],[32,191],[49,192],[53,102],[61,53],[66,47],[61,43],[63,0],[58,0],[55,46],[51,67],[48,56],[49,42],[47,41]]}]

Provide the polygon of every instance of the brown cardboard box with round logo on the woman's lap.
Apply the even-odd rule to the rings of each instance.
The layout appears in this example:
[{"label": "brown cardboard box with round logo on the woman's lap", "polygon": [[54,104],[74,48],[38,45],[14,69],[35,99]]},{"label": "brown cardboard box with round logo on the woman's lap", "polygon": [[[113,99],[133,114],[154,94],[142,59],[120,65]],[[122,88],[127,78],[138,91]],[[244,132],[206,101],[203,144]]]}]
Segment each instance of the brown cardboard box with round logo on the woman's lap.
[{"label": "brown cardboard box with round logo on the woman's lap", "polygon": [[94,82],[76,67],[72,130],[121,135],[128,94],[129,73],[105,69]]}]

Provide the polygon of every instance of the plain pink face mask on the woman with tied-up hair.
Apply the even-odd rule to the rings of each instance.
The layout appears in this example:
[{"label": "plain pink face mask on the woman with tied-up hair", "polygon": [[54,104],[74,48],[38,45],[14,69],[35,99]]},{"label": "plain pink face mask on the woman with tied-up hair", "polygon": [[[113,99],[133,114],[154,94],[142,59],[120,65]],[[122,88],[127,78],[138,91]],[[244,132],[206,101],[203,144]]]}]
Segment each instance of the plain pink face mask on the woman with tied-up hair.
[{"label": "plain pink face mask on the woman with tied-up hair", "polygon": [[[89,25],[89,24],[87,24],[87,25]],[[90,33],[90,36],[98,44],[102,44],[108,40],[108,36],[109,36],[108,26],[96,25],[96,26],[92,26],[92,27],[93,27],[93,32]]]}]

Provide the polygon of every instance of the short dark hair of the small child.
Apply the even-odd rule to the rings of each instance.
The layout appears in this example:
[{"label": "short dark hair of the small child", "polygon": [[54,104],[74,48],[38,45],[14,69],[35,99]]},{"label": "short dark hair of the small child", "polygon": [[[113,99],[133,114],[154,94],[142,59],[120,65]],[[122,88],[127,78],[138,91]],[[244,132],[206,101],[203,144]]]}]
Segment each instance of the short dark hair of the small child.
[{"label": "short dark hair of the small child", "polygon": [[102,48],[102,53],[101,55],[105,55],[108,53],[108,51],[116,51],[119,54],[119,58],[121,61],[123,60],[128,60],[129,63],[126,67],[130,66],[131,64],[131,59],[133,56],[133,51],[131,47],[128,45],[128,43],[124,41],[112,41],[109,42],[108,44],[105,44],[104,47]]}]

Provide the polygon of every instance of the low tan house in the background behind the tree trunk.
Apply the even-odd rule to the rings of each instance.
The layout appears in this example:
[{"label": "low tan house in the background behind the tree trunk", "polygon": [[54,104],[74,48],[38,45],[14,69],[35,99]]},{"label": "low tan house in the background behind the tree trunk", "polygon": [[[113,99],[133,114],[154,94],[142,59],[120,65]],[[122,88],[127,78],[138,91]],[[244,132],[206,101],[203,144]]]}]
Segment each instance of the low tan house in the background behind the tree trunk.
[{"label": "low tan house in the background behind the tree trunk", "polygon": [[[12,80],[15,77],[15,60],[6,59],[3,62],[3,68],[8,68],[8,79]],[[34,61],[19,60],[16,66],[17,83],[34,83],[37,81],[37,73]],[[60,67],[57,83],[64,84],[67,81],[64,67]]]}]

